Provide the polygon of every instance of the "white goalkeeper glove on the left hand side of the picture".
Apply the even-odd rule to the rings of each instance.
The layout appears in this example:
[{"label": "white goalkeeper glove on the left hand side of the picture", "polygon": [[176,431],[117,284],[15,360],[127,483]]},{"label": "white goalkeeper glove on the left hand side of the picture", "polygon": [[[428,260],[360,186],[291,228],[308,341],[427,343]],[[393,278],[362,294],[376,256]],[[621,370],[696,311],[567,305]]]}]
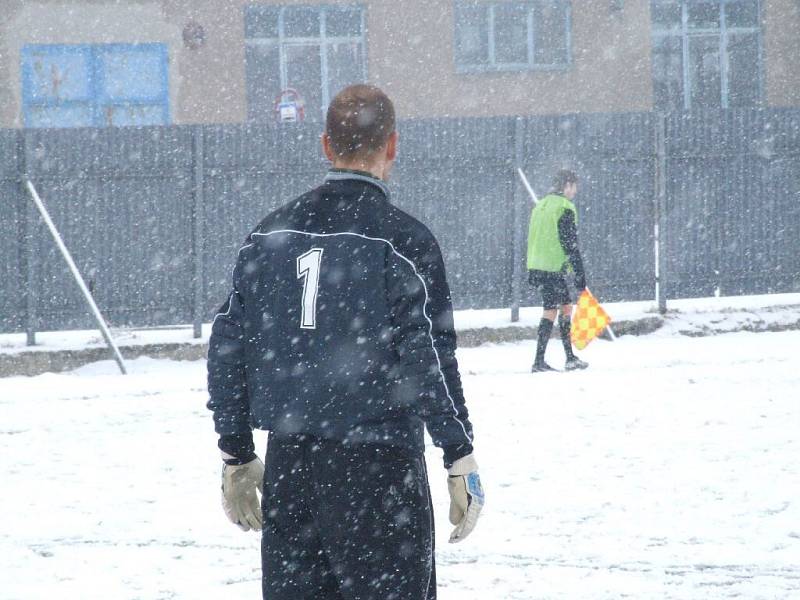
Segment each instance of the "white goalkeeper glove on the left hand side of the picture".
[{"label": "white goalkeeper glove on the left hand side of the picture", "polygon": [[256,491],[264,482],[264,463],[256,457],[243,465],[222,465],[222,508],[242,531],[261,531],[261,503]]}]

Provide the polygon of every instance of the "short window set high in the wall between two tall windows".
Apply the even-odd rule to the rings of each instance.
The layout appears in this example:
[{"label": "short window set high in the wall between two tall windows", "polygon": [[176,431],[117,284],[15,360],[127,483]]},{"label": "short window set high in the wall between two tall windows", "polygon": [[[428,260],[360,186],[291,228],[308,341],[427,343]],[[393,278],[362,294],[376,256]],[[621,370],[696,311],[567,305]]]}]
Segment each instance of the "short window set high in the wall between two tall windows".
[{"label": "short window set high in the wall between two tall windows", "polygon": [[563,69],[571,61],[565,0],[457,0],[455,27],[459,73]]}]

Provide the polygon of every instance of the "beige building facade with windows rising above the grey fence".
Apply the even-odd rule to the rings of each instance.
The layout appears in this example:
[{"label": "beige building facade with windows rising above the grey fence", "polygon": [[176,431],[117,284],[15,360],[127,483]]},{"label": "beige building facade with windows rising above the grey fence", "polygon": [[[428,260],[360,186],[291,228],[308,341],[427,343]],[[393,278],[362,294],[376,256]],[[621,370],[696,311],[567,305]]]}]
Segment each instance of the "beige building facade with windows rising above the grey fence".
[{"label": "beige building facade with windows rising above the grey fence", "polygon": [[798,0],[0,0],[0,127],[800,106],[799,56]]}]

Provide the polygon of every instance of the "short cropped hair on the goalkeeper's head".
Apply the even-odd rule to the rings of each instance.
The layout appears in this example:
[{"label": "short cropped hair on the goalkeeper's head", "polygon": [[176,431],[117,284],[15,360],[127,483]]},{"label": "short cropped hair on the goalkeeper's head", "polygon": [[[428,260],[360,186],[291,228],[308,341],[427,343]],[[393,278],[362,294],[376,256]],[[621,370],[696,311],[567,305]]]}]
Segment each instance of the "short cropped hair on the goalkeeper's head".
[{"label": "short cropped hair on the goalkeeper's head", "polygon": [[325,133],[338,158],[369,159],[386,145],[394,130],[394,105],[375,86],[346,87],[328,106]]}]

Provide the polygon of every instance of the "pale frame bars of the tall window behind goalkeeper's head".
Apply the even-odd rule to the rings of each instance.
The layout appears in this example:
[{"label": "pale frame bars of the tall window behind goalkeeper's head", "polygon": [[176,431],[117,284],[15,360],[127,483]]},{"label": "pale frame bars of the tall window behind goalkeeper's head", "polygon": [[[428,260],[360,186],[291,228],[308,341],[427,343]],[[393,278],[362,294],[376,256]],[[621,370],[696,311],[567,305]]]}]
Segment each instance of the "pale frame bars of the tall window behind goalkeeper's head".
[{"label": "pale frame bars of the tall window behind goalkeeper's head", "polygon": [[[288,86],[288,60],[286,49],[289,46],[319,46],[320,52],[320,86],[322,106],[321,119],[325,119],[325,111],[330,105],[332,98],[330,73],[328,69],[328,47],[334,44],[357,44],[361,58],[361,77],[362,81],[367,80],[367,7],[365,4],[356,2],[352,4],[248,4],[244,7],[244,20],[245,32],[246,23],[248,18],[248,10],[253,8],[274,8],[278,11],[278,37],[247,37],[245,33],[245,46],[277,46],[278,47],[278,65],[279,65],[279,78],[280,89],[285,90]],[[285,29],[285,11],[286,9],[309,8],[317,11],[319,15],[319,36],[318,37],[295,37],[287,36]],[[361,33],[357,36],[329,36],[327,32],[327,14],[329,9],[337,8],[357,8],[361,12]],[[245,66],[245,77],[247,77],[247,67]],[[306,117],[309,115],[311,107],[305,106]],[[316,110],[314,108],[313,110]],[[261,121],[261,119],[253,116],[253,111],[250,108],[250,101],[248,98],[247,120],[250,122]]]}]

